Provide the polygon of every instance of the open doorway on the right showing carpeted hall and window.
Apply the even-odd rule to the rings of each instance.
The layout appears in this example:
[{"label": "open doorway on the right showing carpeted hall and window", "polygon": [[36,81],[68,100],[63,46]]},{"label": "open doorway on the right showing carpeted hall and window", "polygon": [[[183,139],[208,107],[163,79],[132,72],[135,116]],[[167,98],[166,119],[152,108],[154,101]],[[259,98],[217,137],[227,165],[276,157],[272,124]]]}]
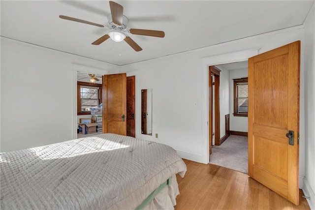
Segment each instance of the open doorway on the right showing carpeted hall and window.
[{"label": "open doorway on the right showing carpeted hall and window", "polygon": [[[220,111],[218,112],[218,124],[219,131],[218,137],[215,142],[213,142],[212,154],[210,155],[210,163],[215,165],[220,165],[226,168],[234,169],[241,171],[243,173],[248,172],[248,147],[247,147],[247,136],[239,136],[239,133],[248,132],[248,118],[247,117],[236,117],[233,112],[234,105],[234,84],[233,79],[247,77],[248,75],[248,62],[233,62],[226,64],[219,64],[209,67],[209,74],[212,74],[212,78],[215,78],[214,70],[217,70],[217,74],[220,73],[219,81],[220,82],[218,100],[221,99],[219,103]],[[212,84],[215,87],[216,82],[212,83],[209,79],[209,84]],[[212,91],[209,90],[209,93]],[[216,98],[214,99],[216,100]],[[209,111],[211,109],[211,102],[209,100]],[[213,102],[212,102],[213,103]],[[213,103],[214,104],[214,103]],[[215,105],[214,105],[215,106]],[[212,106],[214,110],[216,107]],[[214,112],[214,111],[213,111]],[[214,117],[214,116],[213,116]],[[221,121],[220,121],[221,120]],[[211,118],[209,121],[212,121]],[[231,122],[230,122],[231,121]],[[215,124],[214,120],[214,124]],[[221,129],[220,129],[221,126]],[[211,126],[209,126],[211,129]],[[211,132],[211,131],[210,131]],[[209,132],[209,133],[210,133]],[[230,136],[230,134],[233,134]]]}]

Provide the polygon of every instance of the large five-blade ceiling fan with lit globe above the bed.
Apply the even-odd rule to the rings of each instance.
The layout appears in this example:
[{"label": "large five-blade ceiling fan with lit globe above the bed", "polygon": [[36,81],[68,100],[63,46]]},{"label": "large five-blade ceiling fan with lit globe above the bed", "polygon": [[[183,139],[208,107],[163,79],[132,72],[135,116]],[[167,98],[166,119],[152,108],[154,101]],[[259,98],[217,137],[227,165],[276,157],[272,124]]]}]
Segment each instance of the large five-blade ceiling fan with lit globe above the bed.
[{"label": "large five-blade ceiling fan with lit globe above the bed", "polygon": [[155,36],[155,37],[161,37],[161,38],[165,36],[165,33],[161,30],[145,30],[145,29],[127,28],[128,18],[123,14],[124,7],[114,1],[109,1],[109,6],[110,6],[111,14],[107,15],[107,19],[108,19],[107,26],[103,26],[100,24],[96,24],[89,21],[72,18],[72,17],[68,17],[64,15],[59,15],[59,17],[65,20],[90,24],[93,26],[101,27],[101,28],[108,28],[110,30],[108,34],[105,34],[99,39],[97,39],[95,42],[92,43],[93,45],[99,45],[103,43],[104,41],[106,41],[108,38],[111,38],[115,42],[121,42],[124,40],[128,45],[130,45],[130,47],[132,47],[135,51],[138,52],[138,51],[141,51],[142,48],[130,38],[129,36],[130,34]]}]

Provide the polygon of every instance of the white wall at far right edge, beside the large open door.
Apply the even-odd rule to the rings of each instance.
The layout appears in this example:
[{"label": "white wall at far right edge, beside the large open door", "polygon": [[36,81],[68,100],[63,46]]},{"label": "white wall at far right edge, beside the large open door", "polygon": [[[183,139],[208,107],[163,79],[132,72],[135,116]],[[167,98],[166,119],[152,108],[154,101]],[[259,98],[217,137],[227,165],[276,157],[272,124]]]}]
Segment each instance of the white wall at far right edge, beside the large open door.
[{"label": "white wall at far right edge, beside the large open door", "polygon": [[[315,5],[305,21],[305,82],[301,83],[305,90],[305,134],[300,140],[305,141],[305,179],[303,191],[311,209],[315,209]],[[303,100],[303,98],[301,98]],[[300,156],[304,153],[300,152]]]}]

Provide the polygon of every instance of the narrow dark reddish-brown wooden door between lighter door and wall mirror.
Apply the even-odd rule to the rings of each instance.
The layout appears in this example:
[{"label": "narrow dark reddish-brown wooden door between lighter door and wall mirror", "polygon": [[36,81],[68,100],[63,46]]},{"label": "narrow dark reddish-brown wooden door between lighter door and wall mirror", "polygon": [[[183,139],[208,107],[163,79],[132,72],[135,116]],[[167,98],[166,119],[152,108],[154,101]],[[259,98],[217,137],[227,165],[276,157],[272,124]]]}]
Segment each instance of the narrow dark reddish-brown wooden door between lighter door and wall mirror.
[{"label": "narrow dark reddish-brown wooden door between lighter door and wall mirror", "polygon": [[136,137],[135,123],[135,76],[127,77],[127,136]]}]

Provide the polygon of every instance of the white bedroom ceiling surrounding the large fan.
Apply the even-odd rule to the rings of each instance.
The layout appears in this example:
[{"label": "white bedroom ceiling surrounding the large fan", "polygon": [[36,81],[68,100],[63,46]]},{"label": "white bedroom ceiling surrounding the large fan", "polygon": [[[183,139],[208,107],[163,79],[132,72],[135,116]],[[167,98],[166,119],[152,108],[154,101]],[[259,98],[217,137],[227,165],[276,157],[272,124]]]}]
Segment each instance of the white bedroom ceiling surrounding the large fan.
[{"label": "white bedroom ceiling surrounding the large fan", "polygon": [[125,65],[199,49],[269,31],[302,25],[314,1],[116,1],[129,18],[128,28],[163,30],[164,38],[130,35],[143,49],[108,39],[104,28],[67,21],[59,15],[107,24],[109,2],[1,0],[3,37]]}]

